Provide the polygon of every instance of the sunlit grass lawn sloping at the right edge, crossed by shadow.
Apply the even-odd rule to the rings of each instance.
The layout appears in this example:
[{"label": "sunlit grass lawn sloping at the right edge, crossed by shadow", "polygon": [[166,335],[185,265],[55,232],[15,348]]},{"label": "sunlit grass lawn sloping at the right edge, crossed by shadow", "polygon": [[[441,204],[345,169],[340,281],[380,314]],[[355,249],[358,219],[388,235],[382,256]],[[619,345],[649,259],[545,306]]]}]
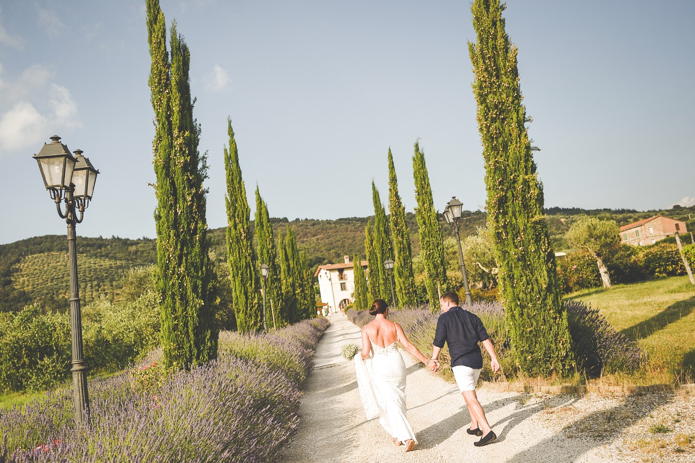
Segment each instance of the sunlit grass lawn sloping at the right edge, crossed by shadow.
[{"label": "sunlit grass lawn sloping at the right edge, crossed by shadow", "polygon": [[566,298],[598,307],[617,331],[637,341],[647,356],[648,378],[695,380],[695,286],[688,277],[618,284]]}]

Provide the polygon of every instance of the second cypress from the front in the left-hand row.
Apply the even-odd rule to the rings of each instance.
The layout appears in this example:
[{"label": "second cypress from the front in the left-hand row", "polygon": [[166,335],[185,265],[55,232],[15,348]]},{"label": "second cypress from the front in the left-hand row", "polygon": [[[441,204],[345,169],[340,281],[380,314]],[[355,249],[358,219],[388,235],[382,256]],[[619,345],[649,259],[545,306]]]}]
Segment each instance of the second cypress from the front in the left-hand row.
[{"label": "second cypress from the front in the left-hand row", "polygon": [[224,148],[224,170],[227,174],[227,195],[224,197],[227,206],[227,261],[237,327],[240,332],[250,332],[259,330],[261,326],[261,282],[256,272],[253,238],[249,227],[251,209],[246,198],[246,186],[241,178],[239,154],[229,118],[227,133],[229,150]]}]

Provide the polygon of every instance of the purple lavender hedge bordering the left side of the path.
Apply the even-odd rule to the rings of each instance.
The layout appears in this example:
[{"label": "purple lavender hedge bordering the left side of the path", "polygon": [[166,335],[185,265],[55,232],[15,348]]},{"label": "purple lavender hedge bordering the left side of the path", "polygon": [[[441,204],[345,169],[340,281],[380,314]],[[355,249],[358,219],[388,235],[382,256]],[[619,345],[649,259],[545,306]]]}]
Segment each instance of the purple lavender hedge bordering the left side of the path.
[{"label": "purple lavender hedge bordering the left side of the path", "polygon": [[68,390],[24,413],[0,411],[8,462],[275,461],[297,430],[298,383],[327,325],[305,320],[277,335],[225,333],[217,360],[172,373],[156,393],[133,392],[128,373],[91,381],[91,428],[74,428]]}]

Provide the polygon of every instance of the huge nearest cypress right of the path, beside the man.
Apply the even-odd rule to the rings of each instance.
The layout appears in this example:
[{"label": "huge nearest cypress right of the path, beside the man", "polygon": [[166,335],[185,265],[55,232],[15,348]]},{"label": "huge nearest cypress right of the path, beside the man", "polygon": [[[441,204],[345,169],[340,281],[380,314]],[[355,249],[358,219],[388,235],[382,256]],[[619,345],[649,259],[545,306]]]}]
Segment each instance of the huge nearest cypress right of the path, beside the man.
[{"label": "huge nearest cypress right of the path, beside the man", "polygon": [[477,42],[469,43],[473,92],[485,161],[488,226],[516,362],[525,373],[571,370],[571,339],[555,254],[543,216],[543,190],[521,104],[517,48],[505,32],[499,0],[471,6]]}]

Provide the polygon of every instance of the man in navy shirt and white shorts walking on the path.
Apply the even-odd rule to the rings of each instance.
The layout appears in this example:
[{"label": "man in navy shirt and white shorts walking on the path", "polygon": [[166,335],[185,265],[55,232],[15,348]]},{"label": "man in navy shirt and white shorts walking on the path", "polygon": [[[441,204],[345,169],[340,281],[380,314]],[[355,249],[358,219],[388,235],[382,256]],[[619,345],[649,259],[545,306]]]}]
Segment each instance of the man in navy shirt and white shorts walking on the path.
[{"label": "man in navy shirt and white shorts walking on the path", "polygon": [[436,332],[432,341],[432,359],[439,366],[437,358],[439,351],[446,342],[451,357],[451,370],[461,395],[466,400],[468,414],[471,415],[471,428],[468,434],[482,436],[480,441],[473,442],[475,446],[484,446],[497,439],[485,418],[485,412],[477,400],[475,384],[482,370],[482,355],[478,341],[490,354],[492,371],[497,373],[500,362],[497,360],[495,348],[492,346],[482,321],[477,315],[459,307],[459,296],[456,293],[445,293],[439,300],[442,314],[436,322]]}]

